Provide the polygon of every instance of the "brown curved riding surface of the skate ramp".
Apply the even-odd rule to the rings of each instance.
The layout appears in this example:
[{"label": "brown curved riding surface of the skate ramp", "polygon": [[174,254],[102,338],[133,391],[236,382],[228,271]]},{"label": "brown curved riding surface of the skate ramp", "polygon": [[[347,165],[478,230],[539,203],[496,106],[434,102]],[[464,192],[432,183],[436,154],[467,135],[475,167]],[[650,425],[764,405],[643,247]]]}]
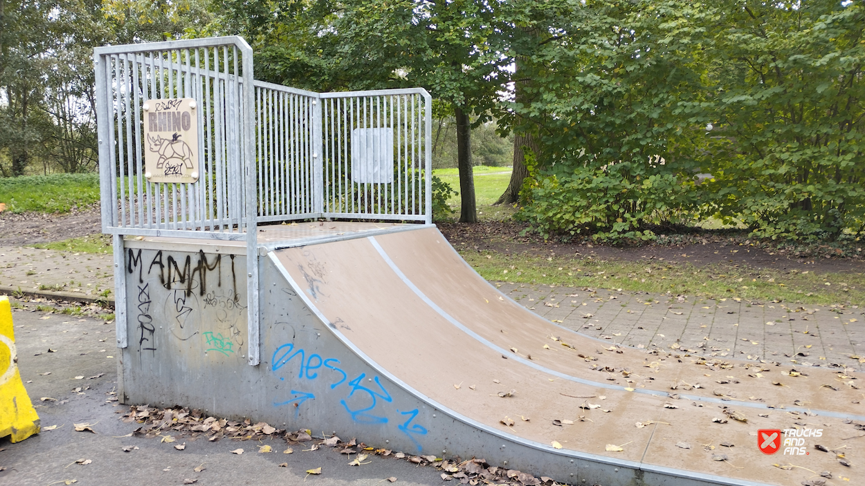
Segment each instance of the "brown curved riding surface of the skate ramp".
[{"label": "brown curved riding surface of the skate ramp", "polygon": [[[369,360],[458,418],[548,444],[549,454],[561,447],[727,484],[799,484],[823,471],[827,484],[865,484],[865,394],[852,370],[599,342],[504,297],[433,227],[276,254]],[[804,438],[806,455],[783,443],[766,455],[758,431],[769,429],[823,432]]]}]

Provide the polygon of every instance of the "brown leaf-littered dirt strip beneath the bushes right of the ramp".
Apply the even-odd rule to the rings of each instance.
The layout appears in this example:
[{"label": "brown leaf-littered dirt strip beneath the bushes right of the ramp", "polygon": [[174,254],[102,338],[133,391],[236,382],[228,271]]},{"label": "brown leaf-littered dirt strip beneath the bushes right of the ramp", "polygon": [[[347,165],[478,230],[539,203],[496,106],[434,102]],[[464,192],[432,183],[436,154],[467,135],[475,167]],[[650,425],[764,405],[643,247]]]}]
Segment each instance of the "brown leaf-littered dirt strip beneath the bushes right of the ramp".
[{"label": "brown leaf-littered dirt strip beneath the bushes right of the ramp", "polygon": [[[596,259],[626,261],[656,260],[692,265],[744,265],[754,269],[798,270],[811,272],[865,272],[862,255],[856,248],[844,252],[846,258],[829,246],[801,248],[766,246],[748,240],[746,234],[695,233],[662,235],[644,246],[606,246],[586,241],[561,243],[544,241],[536,234],[522,235],[525,225],[512,221],[484,221],[476,224],[439,223],[445,238],[458,249],[473,247],[478,251],[529,253],[536,255],[592,256]],[[766,247],[760,247],[761,245]],[[816,254],[815,254],[816,253]]]}]

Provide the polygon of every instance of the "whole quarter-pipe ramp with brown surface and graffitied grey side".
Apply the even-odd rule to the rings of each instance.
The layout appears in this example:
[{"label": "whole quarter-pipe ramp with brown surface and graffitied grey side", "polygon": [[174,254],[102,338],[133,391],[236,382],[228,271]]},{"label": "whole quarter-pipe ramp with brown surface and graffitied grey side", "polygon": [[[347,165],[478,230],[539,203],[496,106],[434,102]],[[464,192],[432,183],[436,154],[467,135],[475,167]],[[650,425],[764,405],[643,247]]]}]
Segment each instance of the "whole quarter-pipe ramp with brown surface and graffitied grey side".
[{"label": "whole quarter-pipe ramp with brown surface and graffitied grey side", "polygon": [[[251,367],[244,248],[192,246],[128,250],[126,403],[483,457],[564,483],[786,485],[826,470],[833,483],[865,483],[865,438],[855,438],[865,397],[852,371],[791,373],[581,336],[504,297],[420,226],[259,258],[261,364]],[[771,431],[781,441],[761,451]]]}]

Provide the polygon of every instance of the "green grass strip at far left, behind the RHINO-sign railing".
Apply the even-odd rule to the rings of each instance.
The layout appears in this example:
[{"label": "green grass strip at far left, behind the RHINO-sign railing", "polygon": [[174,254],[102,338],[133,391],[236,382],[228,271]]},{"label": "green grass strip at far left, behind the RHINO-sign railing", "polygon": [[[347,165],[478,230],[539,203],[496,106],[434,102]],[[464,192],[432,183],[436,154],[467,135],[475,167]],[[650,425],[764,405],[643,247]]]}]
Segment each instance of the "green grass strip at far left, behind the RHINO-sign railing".
[{"label": "green grass strip at far left, behind the RHINO-sign railing", "polygon": [[67,213],[99,202],[99,174],[3,177],[0,202],[15,213]]}]

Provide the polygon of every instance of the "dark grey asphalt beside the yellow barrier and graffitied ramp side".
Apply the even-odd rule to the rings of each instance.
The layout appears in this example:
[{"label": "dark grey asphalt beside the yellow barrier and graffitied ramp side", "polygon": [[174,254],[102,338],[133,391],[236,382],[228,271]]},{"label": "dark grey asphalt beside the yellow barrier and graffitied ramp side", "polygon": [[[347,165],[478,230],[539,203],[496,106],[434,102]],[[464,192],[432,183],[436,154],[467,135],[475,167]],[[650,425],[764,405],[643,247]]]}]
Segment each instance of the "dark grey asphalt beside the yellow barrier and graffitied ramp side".
[{"label": "dark grey asphalt beside the yellow barrier and graffitied ramp side", "polygon": [[[368,464],[349,466],[355,456],[312,443],[293,444],[285,454],[284,438],[208,442],[177,436],[174,443],[160,438],[129,436],[140,425],[120,418],[129,407],[115,400],[117,349],[113,323],[93,317],[69,317],[41,311],[14,310],[18,367],[42,420],[43,431],[17,444],[0,438],[0,485],[202,485],[301,484],[340,486],[442,484],[441,471],[393,457],[370,455]],[[52,349],[53,351],[48,351]],[[76,378],[81,377],[81,378]],[[77,391],[76,391],[77,390]],[[46,400],[42,400],[42,399]],[[74,424],[91,424],[93,432],[76,432]],[[44,430],[56,425],[54,430]],[[339,431],[337,432],[337,435]],[[313,431],[321,437],[323,432]],[[330,433],[330,431],[328,431]],[[349,438],[343,438],[349,439]],[[183,451],[175,448],[185,444]],[[270,444],[271,453],[259,453]],[[124,451],[131,446],[131,451]],[[129,447],[126,447],[129,449]],[[242,448],[243,454],[231,451]],[[78,461],[90,462],[79,464]],[[287,467],[279,464],[287,463]],[[195,468],[203,466],[201,472]],[[306,470],[322,468],[318,476]],[[4,468],[4,469],[3,469]]]}]

